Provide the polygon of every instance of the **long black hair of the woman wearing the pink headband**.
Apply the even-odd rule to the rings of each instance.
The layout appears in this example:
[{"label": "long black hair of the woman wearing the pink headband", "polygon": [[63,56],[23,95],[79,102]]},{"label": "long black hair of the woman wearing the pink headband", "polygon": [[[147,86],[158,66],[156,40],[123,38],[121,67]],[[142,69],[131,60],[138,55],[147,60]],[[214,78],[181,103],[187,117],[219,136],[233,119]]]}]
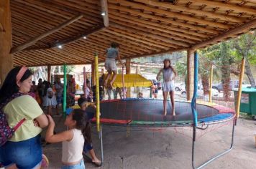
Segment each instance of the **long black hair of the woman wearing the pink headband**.
[{"label": "long black hair of the woman wearing the pink headband", "polygon": [[[7,98],[14,95],[14,93],[19,92],[19,87],[17,85],[17,74],[22,67],[14,67],[4,79],[4,83],[0,89],[0,103],[4,102]],[[23,82],[25,79],[29,78],[32,75],[32,72],[27,69],[20,82]]]}]

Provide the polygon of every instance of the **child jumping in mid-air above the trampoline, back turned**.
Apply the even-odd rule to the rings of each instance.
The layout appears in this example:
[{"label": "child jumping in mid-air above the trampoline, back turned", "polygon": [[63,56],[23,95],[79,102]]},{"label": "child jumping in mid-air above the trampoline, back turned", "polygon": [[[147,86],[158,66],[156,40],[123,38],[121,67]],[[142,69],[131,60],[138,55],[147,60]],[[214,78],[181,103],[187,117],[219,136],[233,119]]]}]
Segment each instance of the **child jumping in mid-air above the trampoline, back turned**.
[{"label": "child jumping in mid-air above the trampoline, back turned", "polygon": [[114,80],[116,79],[116,57],[119,60],[119,62],[122,64],[122,67],[124,67],[124,64],[122,63],[122,60],[119,56],[119,44],[116,44],[115,42],[111,43],[111,47],[109,47],[108,49],[106,49],[106,53],[104,55],[106,55],[106,61],[105,61],[105,68],[108,71],[108,75],[106,77],[105,80],[105,87],[107,82],[109,81],[109,77],[111,76],[112,72],[113,72],[113,77],[111,79],[110,82],[110,86],[113,87],[113,83]]}]

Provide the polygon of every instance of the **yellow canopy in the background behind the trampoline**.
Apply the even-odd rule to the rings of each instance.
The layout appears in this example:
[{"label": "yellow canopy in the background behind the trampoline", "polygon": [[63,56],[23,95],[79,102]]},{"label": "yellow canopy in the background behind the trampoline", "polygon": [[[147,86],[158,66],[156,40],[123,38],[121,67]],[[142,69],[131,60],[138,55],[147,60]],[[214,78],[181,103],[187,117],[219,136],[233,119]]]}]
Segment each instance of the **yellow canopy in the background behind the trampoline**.
[{"label": "yellow canopy in the background behind the trampoline", "polygon": [[[104,79],[106,79],[106,76],[107,74],[105,74]],[[112,77],[113,74],[109,78],[109,82],[111,81]],[[124,87],[150,87],[151,85],[151,81],[149,79],[145,79],[145,77],[142,77],[140,74],[124,74]],[[122,74],[116,75],[113,87],[123,87]]]}]

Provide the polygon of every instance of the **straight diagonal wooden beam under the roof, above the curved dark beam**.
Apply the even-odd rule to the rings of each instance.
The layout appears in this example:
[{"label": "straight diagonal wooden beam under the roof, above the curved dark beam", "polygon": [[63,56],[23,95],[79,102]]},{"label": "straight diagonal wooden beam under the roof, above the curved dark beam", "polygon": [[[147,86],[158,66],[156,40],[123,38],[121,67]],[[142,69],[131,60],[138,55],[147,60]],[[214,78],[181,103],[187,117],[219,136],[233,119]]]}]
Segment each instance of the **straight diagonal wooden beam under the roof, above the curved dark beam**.
[{"label": "straight diagonal wooden beam under the roof, above the curved dark beam", "polygon": [[57,32],[58,30],[62,29],[65,26],[68,26],[69,24],[72,24],[74,21],[77,21],[78,19],[81,19],[83,15],[79,15],[76,17],[73,17],[72,19],[69,19],[68,21],[63,22],[62,24],[59,24],[55,28],[50,29],[49,31],[38,35],[37,37],[30,39],[28,42],[24,42],[23,44],[19,45],[18,47],[14,47],[11,49],[11,54],[14,54],[15,52],[19,52],[23,49],[26,49],[27,47],[35,44],[35,42],[39,41],[40,39],[47,37],[48,35]]}]

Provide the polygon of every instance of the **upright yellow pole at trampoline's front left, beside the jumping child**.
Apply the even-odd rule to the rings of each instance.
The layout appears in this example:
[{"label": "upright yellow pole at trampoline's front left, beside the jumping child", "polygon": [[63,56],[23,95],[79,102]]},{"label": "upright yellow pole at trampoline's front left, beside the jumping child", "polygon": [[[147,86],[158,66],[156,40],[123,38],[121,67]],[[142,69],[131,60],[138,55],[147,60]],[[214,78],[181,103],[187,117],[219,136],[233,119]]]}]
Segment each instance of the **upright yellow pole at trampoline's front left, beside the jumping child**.
[{"label": "upright yellow pole at trampoline's front left, beside the jumping child", "polygon": [[95,55],[95,74],[96,74],[96,125],[97,131],[100,132],[100,121],[99,121],[99,64],[98,64],[98,54]]}]

